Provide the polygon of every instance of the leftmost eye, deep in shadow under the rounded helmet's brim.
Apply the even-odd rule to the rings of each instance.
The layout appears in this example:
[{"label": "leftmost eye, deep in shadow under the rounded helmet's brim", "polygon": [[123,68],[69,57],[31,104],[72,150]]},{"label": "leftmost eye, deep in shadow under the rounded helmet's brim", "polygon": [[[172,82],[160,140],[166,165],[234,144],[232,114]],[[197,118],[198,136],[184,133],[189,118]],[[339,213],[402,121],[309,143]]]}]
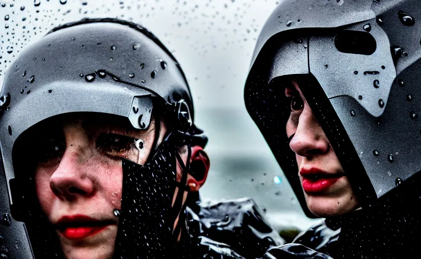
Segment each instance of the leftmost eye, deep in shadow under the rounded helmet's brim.
[{"label": "leftmost eye, deep in shadow under the rounded helmet's brim", "polygon": [[53,165],[59,163],[63,157],[66,145],[55,139],[46,139],[39,141],[36,147],[35,159],[38,163]]}]

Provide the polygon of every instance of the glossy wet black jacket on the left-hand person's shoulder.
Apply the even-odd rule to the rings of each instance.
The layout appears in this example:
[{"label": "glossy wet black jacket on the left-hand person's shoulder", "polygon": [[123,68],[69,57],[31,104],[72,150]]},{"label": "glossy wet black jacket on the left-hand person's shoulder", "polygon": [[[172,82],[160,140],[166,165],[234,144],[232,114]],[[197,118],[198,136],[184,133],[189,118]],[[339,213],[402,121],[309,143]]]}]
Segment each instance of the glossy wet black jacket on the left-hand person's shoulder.
[{"label": "glossy wet black jacket on the left-hand person's shoulder", "polygon": [[251,199],[197,202],[187,211],[190,258],[331,259],[301,244],[286,244]]}]

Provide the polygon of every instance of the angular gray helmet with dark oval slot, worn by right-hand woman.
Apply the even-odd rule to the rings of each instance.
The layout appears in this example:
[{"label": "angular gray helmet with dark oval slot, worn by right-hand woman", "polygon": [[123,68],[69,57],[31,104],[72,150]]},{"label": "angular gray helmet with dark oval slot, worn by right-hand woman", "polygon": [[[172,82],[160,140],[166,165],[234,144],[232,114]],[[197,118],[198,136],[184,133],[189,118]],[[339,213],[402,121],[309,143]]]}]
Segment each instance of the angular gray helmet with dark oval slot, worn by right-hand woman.
[{"label": "angular gray helmet with dark oval slot, worn by right-hand woman", "polygon": [[420,19],[419,1],[285,0],[263,27],[245,105],[309,217],[279,81],[306,80],[303,94],[370,206],[421,170]]}]

